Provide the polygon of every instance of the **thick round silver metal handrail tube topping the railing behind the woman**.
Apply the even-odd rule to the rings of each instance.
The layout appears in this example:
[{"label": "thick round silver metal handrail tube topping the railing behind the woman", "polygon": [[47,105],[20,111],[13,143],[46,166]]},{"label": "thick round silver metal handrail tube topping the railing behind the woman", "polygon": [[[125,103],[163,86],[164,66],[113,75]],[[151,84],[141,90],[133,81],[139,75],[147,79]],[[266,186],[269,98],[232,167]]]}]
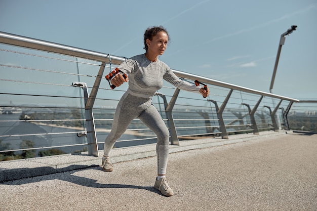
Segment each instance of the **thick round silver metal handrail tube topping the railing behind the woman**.
[{"label": "thick round silver metal handrail tube topping the railing behind the woman", "polygon": [[[118,56],[113,56],[109,54],[104,54],[100,52],[95,52],[95,51],[89,51],[85,49],[80,49],[80,48],[75,48],[75,47],[70,47],[66,45],[61,45],[61,44],[56,44],[56,43],[51,43],[49,41],[44,41],[40,39],[34,39],[30,37],[25,37],[25,36],[20,36],[16,34],[10,34],[6,32],[1,32],[0,31],[0,43],[3,44],[9,44],[9,45],[15,45],[19,47],[25,47],[25,48],[30,48],[30,49],[36,49],[36,50],[42,50],[42,51],[50,51],[58,54],[64,54],[64,55],[70,55],[70,56],[76,56],[80,58],[85,58],[85,59],[91,59],[95,61],[100,61],[100,62],[108,62],[109,63],[109,57],[111,57],[111,63],[112,64],[121,64],[123,61],[125,61],[126,58],[124,57],[118,57]],[[172,69],[172,71],[178,76],[182,78],[188,78],[188,79],[199,79],[201,82],[209,83],[211,85],[219,86],[219,87],[224,87],[232,90],[238,90],[238,91],[243,91],[247,93],[252,93],[252,94],[257,94],[261,96],[267,96],[267,97],[272,97],[272,98],[278,98],[281,100],[287,100],[287,101],[292,101],[292,102],[299,102],[297,99],[293,98],[288,98],[280,95],[275,95],[271,93],[266,93],[266,92],[261,92],[237,85],[233,85],[231,83],[226,83],[222,82],[219,80],[214,80],[198,75],[193,75],[190,73],[186,72],[181,72],[178,70]]]}]

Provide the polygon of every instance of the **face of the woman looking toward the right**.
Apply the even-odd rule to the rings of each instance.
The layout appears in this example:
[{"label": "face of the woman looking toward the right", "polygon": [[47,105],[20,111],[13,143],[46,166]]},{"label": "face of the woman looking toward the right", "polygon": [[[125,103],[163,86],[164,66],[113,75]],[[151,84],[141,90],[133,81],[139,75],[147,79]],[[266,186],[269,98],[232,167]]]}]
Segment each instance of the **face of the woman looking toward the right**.
[{"label": "face of the woman looking toward the right", "polygon": [[146,39],[146,44],[148,46],[148,53],[153,55],[163,55],[166,50],[169,37],[164,31],[160,31],[155,36],[152,37],[152,40]]}]

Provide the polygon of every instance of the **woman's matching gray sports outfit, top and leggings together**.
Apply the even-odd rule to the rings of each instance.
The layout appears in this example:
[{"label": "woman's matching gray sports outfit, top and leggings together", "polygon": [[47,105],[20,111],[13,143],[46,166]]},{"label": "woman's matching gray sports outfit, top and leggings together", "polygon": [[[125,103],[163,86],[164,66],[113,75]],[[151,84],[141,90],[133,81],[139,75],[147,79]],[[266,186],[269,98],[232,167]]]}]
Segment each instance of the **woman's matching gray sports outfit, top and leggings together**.
[{"label": "woman's matching gray sports outfit, top and leggings together", "polygon": [[112,129],[104,143],[104,155],[109,152],[127,130],[132,120],[138,117],[157,136],[157,174],[166,174],[169,154],[169,131],[160,113],[152,105],[151,98],[163,87],[163,79],[175,87],[199,93],[201,87],[179,79],[164,62],[151,62],[144,54],[134,56],[118,68],[129,75],[129,88],[119,101],[112,123]]}]

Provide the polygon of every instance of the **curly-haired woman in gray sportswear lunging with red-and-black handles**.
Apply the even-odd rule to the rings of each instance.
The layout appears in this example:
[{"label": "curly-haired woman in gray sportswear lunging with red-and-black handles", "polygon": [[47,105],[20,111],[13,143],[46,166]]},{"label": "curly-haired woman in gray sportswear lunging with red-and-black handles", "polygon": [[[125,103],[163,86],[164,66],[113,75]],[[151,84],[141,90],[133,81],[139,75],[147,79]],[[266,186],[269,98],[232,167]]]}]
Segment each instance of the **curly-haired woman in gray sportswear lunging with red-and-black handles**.
[{"label": "curly-haired woman in gray sportswear lunging with red-and-black handles", "polygon": [[209,89],[206,91],[179,79],[169,66],[159,60],[158,57],[165,52],[168,41],[169,35],[164,27],[148,28],[144,33],[145,54],[134,56],[118,66],[122,74],[128,74],[129,78],[117,74],[111,83],[119,87],[129,81],[129,88],[117,105],[111,132],[104,143],[102,166],[105,172],[113,171],[109,152],[116,140],[127,130],[131,121],[138,117],[157,136],[157,177],[154,188],[160,190],[163,195],[172,196],[173,190],[166,181],[169,131],[160,113],[152,105],[151,98],[162,88],[163,79],[179,89],[201,93],[204,97],[209,95]]}]

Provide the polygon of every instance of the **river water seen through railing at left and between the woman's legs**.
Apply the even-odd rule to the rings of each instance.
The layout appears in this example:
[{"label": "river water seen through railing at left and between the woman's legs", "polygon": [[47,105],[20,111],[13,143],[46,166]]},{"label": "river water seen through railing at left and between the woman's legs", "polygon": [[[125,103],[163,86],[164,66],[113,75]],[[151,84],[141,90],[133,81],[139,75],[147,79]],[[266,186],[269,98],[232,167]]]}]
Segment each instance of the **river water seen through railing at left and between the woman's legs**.
[{"label": "river water seen through railing at left and between the woman's legs", "polygon": [[[69,132],[80,132],[84,131],[84,129],[73,129],[67,128],[63,126],[53,126],[53,125],[45,125],[38,124],[33,122],[24,122],[24,121],[12,121],[19,120],[20,114],[1,114],[0,115],[0,135],[25,135],[25,136],[10,136],[10,137],[0,137],[2,140],[2,145],[9,144],[10,149],[21,149],[21,143],[24,140],[29,140],[34,143],[32,148],[37,147],[52,147],[54,146],[62,146],[62,145],[73,145],[73,144],[85,144],[87,140],[85,137],[77,137],[76,133],[65,134]],[[59,133],[59,134],[51,134],[51,133]],[[31,135],[34,134],[34,135]],[[41,135],[36,135],[41,134]],[[97,141],[103,142],[108,133],[97,132]],[[152,136],[151,136],[152,137]],[[124,134],[119,140],[131,140],[140,137],[136,137],[135,135]],[[142,137],[146,138],[146,137]],[[155,143],[156,139],[151,140],[140,140],[140,141],[123,141],[117,142],[114,147],[127,147],[127,146],[135,146],[135,145],[143,145],[149,143]],[[25,146],[22,148],[26,148]],[[98,144],[99,150],[103,149],[103,143]],[[68,147],[59,147],[65,153],[74,153],[78,151],[87,151],[85,146],[68,146]],[[47,149],[38,149],[36,150],[36,154],[38,154],[41,150]],[[21,152],[17,152],[16,154],[20,154]]]}]

